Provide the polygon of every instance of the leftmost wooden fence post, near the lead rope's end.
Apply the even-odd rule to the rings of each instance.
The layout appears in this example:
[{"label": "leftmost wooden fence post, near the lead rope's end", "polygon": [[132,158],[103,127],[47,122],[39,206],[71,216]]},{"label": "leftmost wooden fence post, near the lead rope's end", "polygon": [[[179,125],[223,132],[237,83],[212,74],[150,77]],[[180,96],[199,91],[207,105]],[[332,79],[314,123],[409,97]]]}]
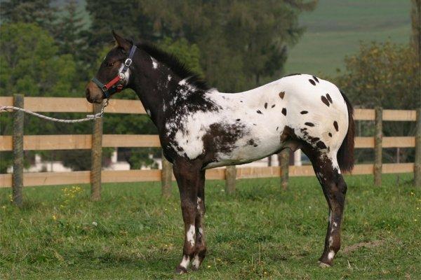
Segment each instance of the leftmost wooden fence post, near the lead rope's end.
[{"label": "leftmost wooden fence post, near the lead rope's end", "polygon": [[[23,94],[13,94],[13,106],[23,108]],[[22,111],[13,113],[13,181],[12,200],[22,206],[23,189],[23,116]]]}]

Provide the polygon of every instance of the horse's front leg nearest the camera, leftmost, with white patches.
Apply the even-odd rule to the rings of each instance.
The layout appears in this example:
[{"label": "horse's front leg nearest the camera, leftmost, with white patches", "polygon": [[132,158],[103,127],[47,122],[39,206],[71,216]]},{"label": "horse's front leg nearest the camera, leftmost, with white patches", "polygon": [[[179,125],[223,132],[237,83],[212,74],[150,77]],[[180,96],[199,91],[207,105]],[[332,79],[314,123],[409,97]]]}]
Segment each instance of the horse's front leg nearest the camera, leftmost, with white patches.
[{"label": "horse's front leg nearest the camera, leftmost, with white patches", "polygon": [[190,260],[196,253],[196,217],[199,213],[197,202],[199,183],[201,181],[201,165],[180,160],[174,162],[173,172],[180,190],[182,219],[185,224],[185,240],[182,260],[175,268],[175,273],[187,272]]}]

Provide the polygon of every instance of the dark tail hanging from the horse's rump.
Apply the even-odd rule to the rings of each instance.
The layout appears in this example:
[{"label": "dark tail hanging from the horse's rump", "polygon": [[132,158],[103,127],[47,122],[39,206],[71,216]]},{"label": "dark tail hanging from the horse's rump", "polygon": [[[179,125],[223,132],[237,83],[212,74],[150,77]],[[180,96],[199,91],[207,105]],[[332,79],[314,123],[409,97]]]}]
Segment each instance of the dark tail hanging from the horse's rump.
[{"label": "dark tail hanging from the horse's rump", "polygon": [[338,164],[341,172],[351,172],[354,167],[354,135],[355,135],[355,123],[354,123],[354,109],[352,108],[349,99],[340,90],[342,97],[345,99],[348,109],[348,131],[344,141],[338,151]]}]

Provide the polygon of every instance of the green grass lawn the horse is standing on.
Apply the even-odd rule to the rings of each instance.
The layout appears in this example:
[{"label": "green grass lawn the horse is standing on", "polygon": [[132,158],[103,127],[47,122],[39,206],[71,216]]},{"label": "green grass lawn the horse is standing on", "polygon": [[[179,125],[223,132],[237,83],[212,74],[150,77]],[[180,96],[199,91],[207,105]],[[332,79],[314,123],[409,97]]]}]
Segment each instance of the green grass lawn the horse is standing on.
[{"label": "green grass lawn the horse is standing on", "polygon": [[342,249],[323,250],[326,201],[315,178],[206,184],[208,256],[199,272],[175,276],[182,254],[178,191],[161,200],[159,183],[25,188],[25,207],[0,190],[0,279],[421,279],[421,191],[412,176],[347,177]]}]

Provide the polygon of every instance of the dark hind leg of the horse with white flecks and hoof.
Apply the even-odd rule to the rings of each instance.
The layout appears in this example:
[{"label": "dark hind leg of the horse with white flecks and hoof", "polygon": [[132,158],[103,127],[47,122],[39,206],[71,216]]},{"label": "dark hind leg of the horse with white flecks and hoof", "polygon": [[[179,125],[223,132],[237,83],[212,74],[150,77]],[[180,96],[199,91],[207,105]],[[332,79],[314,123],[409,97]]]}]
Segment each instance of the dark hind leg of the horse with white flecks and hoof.
[{"label": "dark hind leg of the horse with white flecks and hoof", "polygon": [[347,184],[342,174],[340,174],[336,157],[330,157],[328,154],[315,153],[314,151],[309,152],[308,150],[307,153],[307,156],[312,161],[314,172],[321,184],[326,201],[328,202],[328,228],[324,250],[319,258],[319,264],[321,267],[330,267],[333,265],[333,258],[340,249],[340,225],[345,207]]}]

